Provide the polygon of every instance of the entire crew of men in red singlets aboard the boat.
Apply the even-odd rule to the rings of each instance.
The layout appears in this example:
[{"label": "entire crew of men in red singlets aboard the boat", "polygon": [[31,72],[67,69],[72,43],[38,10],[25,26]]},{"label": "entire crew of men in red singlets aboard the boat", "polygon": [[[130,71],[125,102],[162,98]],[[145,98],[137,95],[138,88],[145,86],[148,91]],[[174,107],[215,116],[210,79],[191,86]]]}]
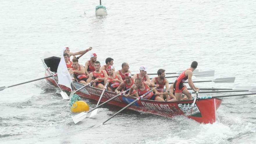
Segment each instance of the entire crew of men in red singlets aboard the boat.
[{"label": "entire crew of men in red singlets aboard the boat", "polygon": [[[79,83],[91,83],[92,86],[103,89],[108,82],[107,90],[113,91],[116,94],[130,88],[128,94],[125,95],[126,97],[139,97],[147,93],[145,96],[147,97],[146,99],[156,101],[192,100],[191,93],[187,90],[186,85],[183,84],[186,80],[188,80],[188,84],[192,90],[199,91],[199,88],[195,87],[192,81],[193,71],[198,65],[196,61],[193,61],[190,68],[182,72],[175,82],[169,86],[169,82],[165,78],[164,69],[159,69],[157,71],[158,76],[150,81],[145,67],[140,67],[140,73],[132,76],[129,71],[129,64],[122,63],[122,69],[115,72],[113,58],[106,58],[106,65],[101,66],[100,62],[97,61],[97,55],[95,53],[90,54],[90,60],[86,61],[85,66],[79,65],[78,58],[91,49],[92,47],[84,51],[71,53],[68,47],[65,48],[63,56],[68,71],[70,74],[74,74],[76,81]],[[73,58],[70,61],[70,56],[75,57],[79,54],[79,57]],[[182,98],[182,94],[185,95],[184,98]]]}]

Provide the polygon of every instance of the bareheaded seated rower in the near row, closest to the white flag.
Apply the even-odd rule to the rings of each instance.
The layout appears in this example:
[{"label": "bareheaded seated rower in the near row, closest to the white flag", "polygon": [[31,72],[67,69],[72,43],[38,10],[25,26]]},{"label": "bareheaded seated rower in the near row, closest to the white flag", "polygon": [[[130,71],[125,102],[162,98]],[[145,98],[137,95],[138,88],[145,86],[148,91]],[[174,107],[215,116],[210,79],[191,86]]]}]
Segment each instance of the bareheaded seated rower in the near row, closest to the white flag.
[{"label": "bareheaded seated rower in the near row, closest to the white flag", "polygon": [[68,72],[70,74],[74,74],[75,78],[79,83],[86,84],[86,80],[88,77],[85,75],[83,65],[79,65],[77,58],[72,59],[72,66],[73,68],[70,69]]}]

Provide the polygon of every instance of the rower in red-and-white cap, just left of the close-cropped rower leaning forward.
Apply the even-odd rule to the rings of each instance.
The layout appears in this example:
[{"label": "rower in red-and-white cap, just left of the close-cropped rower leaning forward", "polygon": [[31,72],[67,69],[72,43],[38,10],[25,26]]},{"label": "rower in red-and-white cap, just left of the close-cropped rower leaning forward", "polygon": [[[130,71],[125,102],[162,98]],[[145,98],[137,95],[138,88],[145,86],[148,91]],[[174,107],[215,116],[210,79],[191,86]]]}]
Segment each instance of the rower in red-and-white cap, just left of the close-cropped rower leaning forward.
[{"label": "rower in red-and-white cap, just left of the close-cropped rower leaning forward", "polygon": [[[120,85],[118,86],[118,88],[115,89],[115,93],[119,94],[121,93],[122,90],[127,90],[129,88],[131,88],[131,86],[134,85],[134,81],[133,78],[131,78],[131,73],[127,72],[124,74],[125,75],[125,80],[120,83]],[[131,97],[138,97],[138,93],[136,93],[136,90],[133,90],[133,92],[131,93],[131,95],[125,95],[127,96],[131,96]]]}]

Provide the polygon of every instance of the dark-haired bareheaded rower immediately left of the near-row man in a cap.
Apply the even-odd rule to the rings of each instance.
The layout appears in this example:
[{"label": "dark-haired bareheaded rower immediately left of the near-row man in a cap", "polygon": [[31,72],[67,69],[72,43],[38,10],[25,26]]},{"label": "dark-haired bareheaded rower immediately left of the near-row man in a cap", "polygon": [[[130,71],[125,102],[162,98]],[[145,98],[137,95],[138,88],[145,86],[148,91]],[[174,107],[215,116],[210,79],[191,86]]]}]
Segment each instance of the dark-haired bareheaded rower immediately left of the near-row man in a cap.
[{"label": "dark-haired bareheaded rower immediately left of the near-row man in a cap", "polygon": [[93,81],[93,86],[95,88],[104,88],[104,80],[108,77],[107,72],[105,70],[99,70],[100,63],[99,61],[95,61],[94,63],[95,71],[89,74],[89,78],[87,79],[87,83]]}]

